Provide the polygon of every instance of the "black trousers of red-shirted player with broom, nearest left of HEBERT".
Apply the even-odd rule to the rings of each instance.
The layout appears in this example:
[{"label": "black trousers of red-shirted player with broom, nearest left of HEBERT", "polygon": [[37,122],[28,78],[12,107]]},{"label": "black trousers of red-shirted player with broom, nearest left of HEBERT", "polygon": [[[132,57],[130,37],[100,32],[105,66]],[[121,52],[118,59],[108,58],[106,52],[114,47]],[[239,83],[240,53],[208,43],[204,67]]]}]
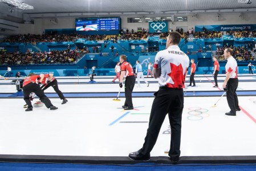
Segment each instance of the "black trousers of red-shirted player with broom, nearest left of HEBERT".
[{"label": "black trousers of red-shirted player with broom, nearest left of HEBERT", "polygon": [[135,76],[127,76],[125,78],[124,84],[124,95],[125,95],[125,102],[124,105],[127,107],[133,107],[132,104],[132,91],[135,86]]}]

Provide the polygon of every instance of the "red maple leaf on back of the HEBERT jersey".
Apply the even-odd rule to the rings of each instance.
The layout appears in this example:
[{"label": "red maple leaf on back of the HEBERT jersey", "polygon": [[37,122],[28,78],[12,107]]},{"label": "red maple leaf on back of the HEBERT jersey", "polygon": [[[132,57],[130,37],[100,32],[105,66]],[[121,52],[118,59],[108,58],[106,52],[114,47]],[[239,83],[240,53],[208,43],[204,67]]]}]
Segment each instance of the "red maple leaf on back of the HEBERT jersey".
[{"label": "red maple leaf on back of the HEBERT jersey", "polygon": [[172,83],[166,83],[166,87],[169,88],[184,88],[184,82],[185,82],[185,74],[183,74],[183,67],[181,64],[176,66],[173,63],[170,63],[170,68],[172,71],[170,71],[169,75],[172,79]]}]

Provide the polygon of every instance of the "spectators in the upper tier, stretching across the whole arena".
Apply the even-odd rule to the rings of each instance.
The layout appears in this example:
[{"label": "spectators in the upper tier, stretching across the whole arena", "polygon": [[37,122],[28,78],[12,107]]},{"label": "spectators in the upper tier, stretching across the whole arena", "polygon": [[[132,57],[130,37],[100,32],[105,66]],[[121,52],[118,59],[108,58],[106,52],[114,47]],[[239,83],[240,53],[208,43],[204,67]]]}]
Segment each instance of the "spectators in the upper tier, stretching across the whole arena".
[{"label": "spectators in the upper tier, stretching across the whole arena", "polygon": [[[189,29],[192,30],[192,29]],[[180,32],[182,38],[188,38],[189,34],[193,34],[193,37],[196,39],[207,39],[207,38],[221,38],[224,34],[220,31],[209,31],[204,29],[204,31],[194,32],[192,31],[183,31],[183,29],[177,29],[176,31]],[[227,35],[233,35],[234,38],[255,38],[256,31],[227,31]],[[113,42],[117,42],[117,40],[141,40],[147,39],[148,36],[156,36],[159,35],[160,39],[165,39],[168,36],[168,32],[154,32],[149,33],[147,30],[139,31],[139,32],[123,32],[123,34],[117,35],[81,35],[81,34],[18,34],[5,38],[3,42],[10,43],[39,43],[39,42],[75,42],[80,38],[84,38],[86,40],[113,40]]]}]

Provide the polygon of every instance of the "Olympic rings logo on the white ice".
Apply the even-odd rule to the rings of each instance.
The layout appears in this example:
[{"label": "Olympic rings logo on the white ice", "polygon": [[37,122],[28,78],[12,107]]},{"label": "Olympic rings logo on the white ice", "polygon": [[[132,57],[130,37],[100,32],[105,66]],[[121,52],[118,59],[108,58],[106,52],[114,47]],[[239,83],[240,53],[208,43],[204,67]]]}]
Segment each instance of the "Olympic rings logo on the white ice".
[{"label": "Olympic rings logo on the white ice", "polygon": [[202,109],[200,107],[190,107],[188,108],[188,114],[190,116],[187,117],[188,120],[202,120],[205,117],[209,117],[208,109]]}]

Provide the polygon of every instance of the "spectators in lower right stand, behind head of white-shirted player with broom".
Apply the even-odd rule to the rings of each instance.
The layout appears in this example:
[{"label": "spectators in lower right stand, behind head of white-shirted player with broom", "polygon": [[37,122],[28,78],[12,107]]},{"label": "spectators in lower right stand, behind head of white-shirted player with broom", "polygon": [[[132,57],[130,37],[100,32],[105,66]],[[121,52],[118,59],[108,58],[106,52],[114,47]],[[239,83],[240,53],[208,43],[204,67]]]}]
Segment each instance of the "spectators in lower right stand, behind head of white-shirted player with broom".
[{"label": "spectators in lower right stand, behind head of white-shirted player with broom", "polygon": [[[219,60],[224,59],[224,50],[227,46],[217,46],[216,55],[218,56]],[[245,46],[230,46],[233,49],[233,57],[236,60],[255,60],[254,56],[251,54],[251,51],[248,49],[248,45]]]}]

